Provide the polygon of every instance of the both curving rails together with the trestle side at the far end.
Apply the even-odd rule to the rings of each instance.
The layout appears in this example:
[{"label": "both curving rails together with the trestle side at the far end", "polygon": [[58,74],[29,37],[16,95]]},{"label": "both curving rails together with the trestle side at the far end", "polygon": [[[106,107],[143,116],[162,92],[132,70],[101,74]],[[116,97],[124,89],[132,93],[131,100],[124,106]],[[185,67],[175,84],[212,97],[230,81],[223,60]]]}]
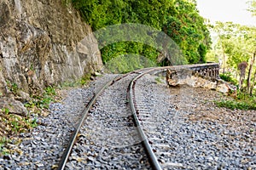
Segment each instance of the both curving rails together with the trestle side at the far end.
[{"label": "both curving rails together with the trestle side at the far end", "polygon": [[[92,109],[93,105],[96,103],[96,99],[103,93],[103,91],[105,89],[112,86],[113,83],[118,82],[122,78],[127,77],[128,75],[131,75],[131,74],[138,74],[137,77],[135,77],[131,80],[129,88],[128,88],[128,94],[127,94],[128,100],[130,102],[131,112],[134,116],[134,122],[136,123],[137,131],[140,135],[141,141],[143,142],[143,146],[144,146],[146,152],[148,153],[148,159],[150,160],[149,162],[151,163],[152,168],[161,169],[160,162],[158,161],[157,157],[154,155],[154,150],[151,148],[149,141],[148,141],[145,133],[143,132],[143,129],[138,120],[137,110],[136,110],[137,103],[136,103],[136,99],[134,97],[134,95],[135,95],[134,88],[135,88],[137,80],[139,78],[143,77],[145,74],[148,74],[148,73],[154,74],[154,75],[155,74],[164,74],[167,69],[172,69],[172,70],[189,69],[192,71],[201,72],[202,74],[207,74],[208,76],[212,75],[214,77],[218,77],[218,64],[212,63],[212,64],[204,64],[204,65],[177,65],[177,66],[167,66],[167,67],[146,68],[146,69],[142,69],[139,71],[132,71],[125,75],[121,75],[119,77],[113,78],[113,80],[107,82],[105,85],[103,85],[103,87],[98,92],[96,92],[96,94],[92,97],[92,99],[90,99],[90,102],[88,103],[88,105],[86,105],[86,107],[84,108],[84,111],[82,112],[82,116],[79,121],[79,124],[75,128],[75,131],[72,133],[72,136],[67,144],[67,148],[64,151],[63,155],[61,156],[61,161],[59,163],[58,169],[62,170],[65,168],[67,160],[68,160],[68,156],[70,155],[70,153],[72,151],[73,144],[75,143],[75,140],[77,139],[80,128],[81,128],[84,120],[88,116],[89,111]],[[208,72],[211,71],[211,73],[208,74],[207,71]]]}]

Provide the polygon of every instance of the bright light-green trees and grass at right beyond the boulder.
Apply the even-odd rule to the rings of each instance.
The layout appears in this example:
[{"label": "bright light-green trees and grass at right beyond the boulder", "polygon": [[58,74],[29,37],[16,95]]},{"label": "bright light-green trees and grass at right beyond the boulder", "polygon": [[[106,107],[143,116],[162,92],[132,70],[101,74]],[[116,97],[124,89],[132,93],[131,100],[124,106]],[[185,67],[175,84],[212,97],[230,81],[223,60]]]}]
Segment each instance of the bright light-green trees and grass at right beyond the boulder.
[{"label": "bright light-green trees and grass at right beyond the boulder", "polygon": [[[247,10],[256,16],[256,1],[250,0],[247,4]],[[256,110],[256,27],[216,22],[212,31],[218,37],[207,58],[221,62],[220,77],[236,85],[238,90],[233,100],[216,101],[216,104],[230,109]]]}]

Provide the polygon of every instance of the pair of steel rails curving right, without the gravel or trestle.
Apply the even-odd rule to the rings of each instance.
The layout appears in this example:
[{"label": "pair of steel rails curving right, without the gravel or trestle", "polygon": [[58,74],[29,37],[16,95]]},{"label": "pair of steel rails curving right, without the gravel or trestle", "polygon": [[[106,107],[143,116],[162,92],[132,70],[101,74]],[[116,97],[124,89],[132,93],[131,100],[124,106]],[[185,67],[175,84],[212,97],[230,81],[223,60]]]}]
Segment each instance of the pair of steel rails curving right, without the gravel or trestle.
[{"label": "pair of steel rails curving right, without the gravel or trestle", "polygon": [[[62,154],[61,156],[61,161],[59,162],[59,165],[58,165],[58,170],[63,170],[66,166],[66,163],[67,163],[67,159],[68,159],[68,156],[70,155],[71,153],[71,150],[73,148],[73,144],[75,143],[75,139],[77,138],[77,135],[79,134],[79,130],[80,128],[82,127],[82,124],[84,122],[84,119],[88,116],[88,113],[90,111],[90,109],[92,108],[92,105],[95,104],[96,102],[96,99],[98,98],[99,95],[101,95],[103,93],[103,91],[108,88],[109,86],[111,86],[114,82],[117,82],[119,81],[120,79],[132,74],[132,73],[138,73],[139,76],[135,77],[131,82],[130,82],[130,85],[129,85],[129,88],[128,88],[128,97],[129,97],[129,101],[130,101],[130,106],[131,106],[131,112],[135,118],[135,122],[136,122],[136,125],[137,125],[137,130],[138,130],[138,133],[141,135],[141,139],[143,140],[143,144],[144,144],[144,147],[146,148],[146,151],[148,153],[148,156],[149,156],[149,159],[151,161],[151,164],[152,166],[154,167],[154,169],[162,169],[160,167],[160,163],[159,161],[157,161],[157,158],[156,156],[154,155],[154,152],[150,146],[150,144],[148,143],[148,139],[145,135],[145,133],[143,132],[143,129],[140,125],[140,122],[138,121],[138,117],[137,117],[137,113],[136,113],[136,109],[134,107],[135,103],[133,101],[133,96],[134,96],[134,91],[133,91],[133,88],[135,87],[135,84],[136,84],[136,81],[137,79],[139,79],[140,77],[143,77],[143,75],[149,73],[150,71],[158,71],[158,72],[162,72],[162,71],[166,71],[166,69],[168,68],[172,68],[174,70],[179,70],[179,69],[191,69],[193,70],[194,68],[196,67],[209,67],[209,66],[216,66],[217,64],[203,64],[203,65],[176,65],[176,66],[166,66],[166,67],[154,67],[154,68],[144,68],[144,69],[141,69],[141,70],[138,70],[138,71],[131,71],[129,73],[126,73],[125,75],[121,75],[119,77],[115,77],[113,78],[113,80],[107,82],[94,96],[92,99],[90,99],[90,102],[88,103],[88,105],[86,105],[86,107],[84,108],[84,111],[82,111],[82,117],[81,117],[81,120],[79,122],[79,125],[78,127],[75,129],[75,131],[72,133],[71,135],[71,138],[69,140],[69,143],[67,144],[67,148],[66,150],[64,151],[64,153]],[[145,71],[146,70],[146,71]],[[142,73],[140,73],[140,71],[143,71]],[[157,73],[157,72],[156,72]],[[155,74],[155,73],[154,73]]]}]

